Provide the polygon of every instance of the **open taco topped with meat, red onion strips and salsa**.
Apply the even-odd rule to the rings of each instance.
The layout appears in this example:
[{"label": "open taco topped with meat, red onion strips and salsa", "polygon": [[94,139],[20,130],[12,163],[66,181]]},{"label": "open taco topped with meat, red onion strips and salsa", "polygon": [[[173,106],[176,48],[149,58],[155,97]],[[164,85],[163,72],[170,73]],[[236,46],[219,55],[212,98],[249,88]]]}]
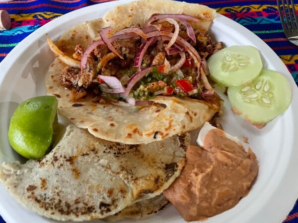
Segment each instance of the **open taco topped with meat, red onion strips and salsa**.
[{"label": "open taco topped with meat, red onion strips and salsa", "polygon": [[[162,14],[160,14],[162,13]],[[214,9],[171,0],[117,6],[67,30],[46,75],[59,112],[96,137],[126,144],[183,134],[221,113],[206,59]]]}]

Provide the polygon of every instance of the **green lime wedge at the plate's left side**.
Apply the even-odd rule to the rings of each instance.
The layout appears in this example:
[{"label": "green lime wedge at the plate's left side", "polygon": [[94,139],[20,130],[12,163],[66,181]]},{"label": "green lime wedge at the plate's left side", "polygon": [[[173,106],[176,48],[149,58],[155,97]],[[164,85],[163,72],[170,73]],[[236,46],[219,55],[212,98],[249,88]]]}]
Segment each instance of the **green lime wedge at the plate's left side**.
[{"label": "green lime wedge at the plate's left side", "polygon": [[53,126],[58,124],[58,100],[40,96],[22,102],[9,124],[8,140],[12,148],[28,159],[45,155],[52,143]]}]

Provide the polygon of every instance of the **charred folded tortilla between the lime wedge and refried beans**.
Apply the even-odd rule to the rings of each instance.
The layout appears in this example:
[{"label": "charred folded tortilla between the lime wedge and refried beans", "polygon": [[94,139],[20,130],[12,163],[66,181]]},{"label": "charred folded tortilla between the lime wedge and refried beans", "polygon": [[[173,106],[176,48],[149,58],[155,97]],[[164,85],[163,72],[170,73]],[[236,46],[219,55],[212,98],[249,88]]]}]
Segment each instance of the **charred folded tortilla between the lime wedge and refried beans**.
[{"label": "charred folded tortilla between the lime wedge and refried beans", "polygon": [[71,124],[42,159],[3,164],[0,181],[39,215],[63,221],[101,219],[166,189],[180,174],[189,141],[183,135],[126,145]]}]

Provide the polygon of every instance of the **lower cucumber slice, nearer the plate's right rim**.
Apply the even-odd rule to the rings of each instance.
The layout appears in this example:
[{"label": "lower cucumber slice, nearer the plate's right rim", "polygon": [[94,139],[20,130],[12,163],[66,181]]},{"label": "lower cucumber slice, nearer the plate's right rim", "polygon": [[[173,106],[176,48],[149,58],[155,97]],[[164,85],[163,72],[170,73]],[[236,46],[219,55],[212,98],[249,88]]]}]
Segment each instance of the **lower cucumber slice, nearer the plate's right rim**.
[{"label": "lower cucumber slice, nearer the plate's right rim", "polygon": [[288,109],[292,91],[290,83],[283,75],[272,70],[262,70],[260,76],[249,85],[229,87],[227,96],[232,111],[262,128]]}]

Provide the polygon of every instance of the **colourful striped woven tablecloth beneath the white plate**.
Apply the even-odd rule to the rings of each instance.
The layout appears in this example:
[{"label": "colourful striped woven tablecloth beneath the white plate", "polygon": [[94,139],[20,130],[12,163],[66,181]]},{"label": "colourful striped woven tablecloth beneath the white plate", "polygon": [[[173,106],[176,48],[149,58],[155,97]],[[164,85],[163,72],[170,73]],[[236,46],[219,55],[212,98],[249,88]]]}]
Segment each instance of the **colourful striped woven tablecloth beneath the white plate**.
[{"label": "colourful striped woven tablecloth beneath the white plate", "polygon": [[[108,0],[15,0],[0,2],[11,17],[11,29],[0,31],[0,61],[26,36],[51,20],[87,5]],[[215,8],[245,26],[268,44],[283,60],[298,84],[298,47],[287,41],[276,0],[185,0]],[[298,2],[297,2],[298,3]],[[298,4],[296,5],[298,10]],[[298,185],[297,185],[298,186]],[[298,205],[284,222],[298,223]],[[0,223],[4,221],[0,217]]]}]

